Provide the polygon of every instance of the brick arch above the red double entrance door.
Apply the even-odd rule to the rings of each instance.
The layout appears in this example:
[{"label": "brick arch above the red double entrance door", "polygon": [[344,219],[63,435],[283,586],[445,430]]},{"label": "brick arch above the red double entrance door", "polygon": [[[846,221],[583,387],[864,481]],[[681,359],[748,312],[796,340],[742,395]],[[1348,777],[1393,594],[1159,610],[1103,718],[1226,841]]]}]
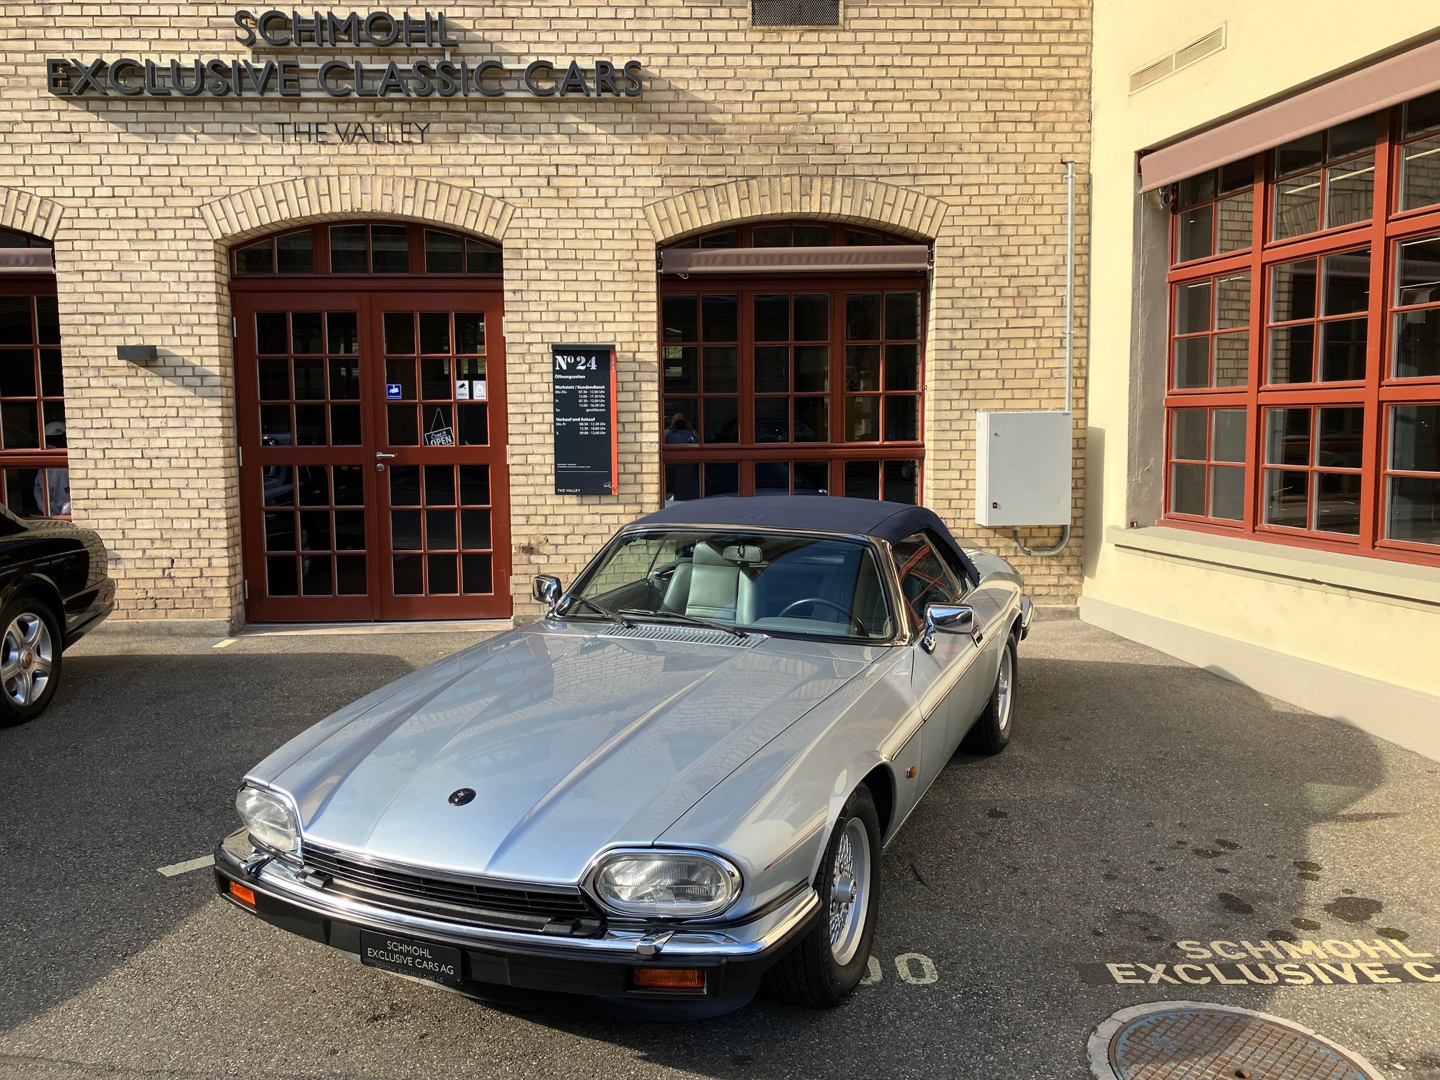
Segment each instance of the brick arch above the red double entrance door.
[{"label": "brick arch above the red double entrance door", "polygon": [[217,242],[243,240],[285,225],[340,217],[446,225],[504,242],[510,203],[469,187],[415,177],[325,176],[251,187],[204,203],[200,216]]}]

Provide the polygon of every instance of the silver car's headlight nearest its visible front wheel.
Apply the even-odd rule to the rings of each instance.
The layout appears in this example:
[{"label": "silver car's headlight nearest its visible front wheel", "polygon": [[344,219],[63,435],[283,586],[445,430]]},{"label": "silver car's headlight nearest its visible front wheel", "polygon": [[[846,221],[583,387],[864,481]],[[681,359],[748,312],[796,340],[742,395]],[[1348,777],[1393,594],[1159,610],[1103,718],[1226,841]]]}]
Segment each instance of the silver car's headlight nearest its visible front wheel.
[{"label": "silver car's headlight nearest its visible front wheel", "polygon": [[740,871],[691,851],[616,851],[595,871],[595,896],[628,916],[704,919],[740,894]]}]

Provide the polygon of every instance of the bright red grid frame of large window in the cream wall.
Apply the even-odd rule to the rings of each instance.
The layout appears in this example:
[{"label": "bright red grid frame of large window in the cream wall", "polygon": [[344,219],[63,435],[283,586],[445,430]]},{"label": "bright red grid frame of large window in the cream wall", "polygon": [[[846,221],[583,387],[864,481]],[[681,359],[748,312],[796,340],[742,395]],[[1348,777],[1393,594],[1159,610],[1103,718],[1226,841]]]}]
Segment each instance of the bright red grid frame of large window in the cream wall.
[{"label": "bright red grid frame of large window in the cream wall", "polygon": [[[1169,327],[1168,327],[1168,359],[1166,359],[1166,390],[1165,390],[1165,507],[1162,523],[1179,528],[1200,531],[1248,536],[1279,544],[1292,544],[1320,550],[1345,552],[1352,554],[1367,554],[1397,562],[1424,563],[1440,566],[1440,544],[1421,544],[1407,540],[1395,540],[1385,536],[1387,531],[1387,490],[1391,475],[1403,475],[1403,471],[1391,468],[1390,458],[1390,429],[1392,425],[1392,409],[1397,405],[1440,403],[1440,374],[1395,377],[1392,374],[1392,357],[1395,350],[1397,311],[1440,307],[1436,304],[1400,307],[1397,275],[1398,275],[1398,245],[1404,240],[1421,239],[1427,236],[1440,238],[1440,202],[1401,210],[1400,190],[1400,154],[1405,145],[1423,140],[1440,143],[1440,127],[1433,127],[1404,140],[1398,138],[1405,107],[1385,109],[1372,117],[1375,124],[1375,176],[1371,197],[1371,216],[1361,222],[1352,222],[1335,228],[1320,228],[1303,236],[1283,240],[1272,239],[1270,225],[1274,217],[1276,181],[1274,157],[1276,151],[1257,154],[1251,160],[1253,170],[1253,216],[1251,243],[1248,248],[1234,252],[1212,253],[1210,256],[1179,262],[1179,186],[1171,190],[1171,269],[1166,275],[1169,288]],[[1322,171],[1320,192],[1320,223],[1325,220],[1325,170],[1365,157],[1371,153],[1361,148],[1345,158],[1323,161],[1318,168]],[[1191,209],[1191,207],[1184,207]],[[1369,282],[1368,297],[1364,308],[1365,317],[1365,372],[1361,380],[1346,382],[1310,382],[1310,383],[1269,383],[1270,341],[1269,320],[1272,305],[1272,271],[1274,266],[1299,259],[1316,261],[1318,301],[1313,320],[1316,325],[1315,341],[1312,343],[1313,370],[1318,379],[1322,373],[1322,353],[1319,327],[1333,318],[1344,315],[1325,315],[1323,302],[1323,265],[1325,256],[1342,255],[1351,251],[1369,252]],[[1175,363],[1178,341],[1185,334],[1176,334],[1176,289],[1187,284],[1215,279],[1231,274],[1250,274],[1250,325],[1248,325],[1248,373],[1244,384],[1210,386],[1195,389],[1175,389]],[[1212,288],[1214,294],[1214,288]],[[1211,300],[1214,304],[1214,298]],[[1302,320],[1303,321],[1303,320]],[[1215,333],[1214,317],[1211,318],[1211,336]],[[1211,360],[1214,364],[1214,360]],[[1212,369],[1214,370],[1214,369]],[[1310,500],[1313,503],[1313,474],[1316,472],[1354,472],[1359,481],[1359,523],[1358,533],[1351,536],[1318,530],[1313,527],[1313,510],[1309,510],[1305,528],[1267,524],[1264,517],[1264,484],[1266,484],[1266,413],[1279,408],[1302,408],[1312,410],[1313,418],[1318,409],[1354,406],[1364,409],[1364,428],[1361,435],[1361,467],[1349,469],[1338,465],[1320,464],[1316,459],[1315,442],[1312,438],[1310,462],[1308,471],[1312,474]],[[1240,521],[1228,521],[1214,517],[1195,517],[1172,511],[1174,504],[1174,475],[1172,467],[1178,462],[1172,456],[1172,418],[1178,409],[1244,409],[1246,425],[1246,497],[1244,517]],[[1318,432],[1315,433],[1318,436]],[[1179,461],[1178,464],[1185,464]],[[1283,467],[1280,467],[1283,468]],[[1420,474],[1428,477],[1430,474]],[[1207,474],[1208,480],[1208,474]],[[1207,482],[1208,491],[1208,482]],[[1207,507],[1208,508],[1208,507]]]}]

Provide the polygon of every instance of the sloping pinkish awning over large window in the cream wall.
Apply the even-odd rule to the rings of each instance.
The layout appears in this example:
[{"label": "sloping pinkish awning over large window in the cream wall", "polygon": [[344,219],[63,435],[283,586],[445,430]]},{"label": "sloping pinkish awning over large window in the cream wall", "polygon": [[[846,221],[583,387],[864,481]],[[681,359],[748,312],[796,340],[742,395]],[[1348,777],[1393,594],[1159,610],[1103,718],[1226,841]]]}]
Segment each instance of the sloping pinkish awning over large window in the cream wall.
[{"label": "sloping pinkish awning over large window in the cream wall", "polygon": [[1140,157],[1140,190],[1204,173],[1440,89],[1440,40],[1391,56]]}]

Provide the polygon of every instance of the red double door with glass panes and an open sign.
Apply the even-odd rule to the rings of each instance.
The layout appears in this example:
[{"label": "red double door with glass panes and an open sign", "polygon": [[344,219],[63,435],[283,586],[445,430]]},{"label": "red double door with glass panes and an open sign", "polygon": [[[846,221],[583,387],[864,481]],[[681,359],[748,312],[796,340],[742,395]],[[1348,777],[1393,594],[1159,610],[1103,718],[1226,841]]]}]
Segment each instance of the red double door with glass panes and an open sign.
[{"label": "red double door with glass panes and an open sign", "polygon": [[236,291],[248,619],[510,615],[500,302]]}]

